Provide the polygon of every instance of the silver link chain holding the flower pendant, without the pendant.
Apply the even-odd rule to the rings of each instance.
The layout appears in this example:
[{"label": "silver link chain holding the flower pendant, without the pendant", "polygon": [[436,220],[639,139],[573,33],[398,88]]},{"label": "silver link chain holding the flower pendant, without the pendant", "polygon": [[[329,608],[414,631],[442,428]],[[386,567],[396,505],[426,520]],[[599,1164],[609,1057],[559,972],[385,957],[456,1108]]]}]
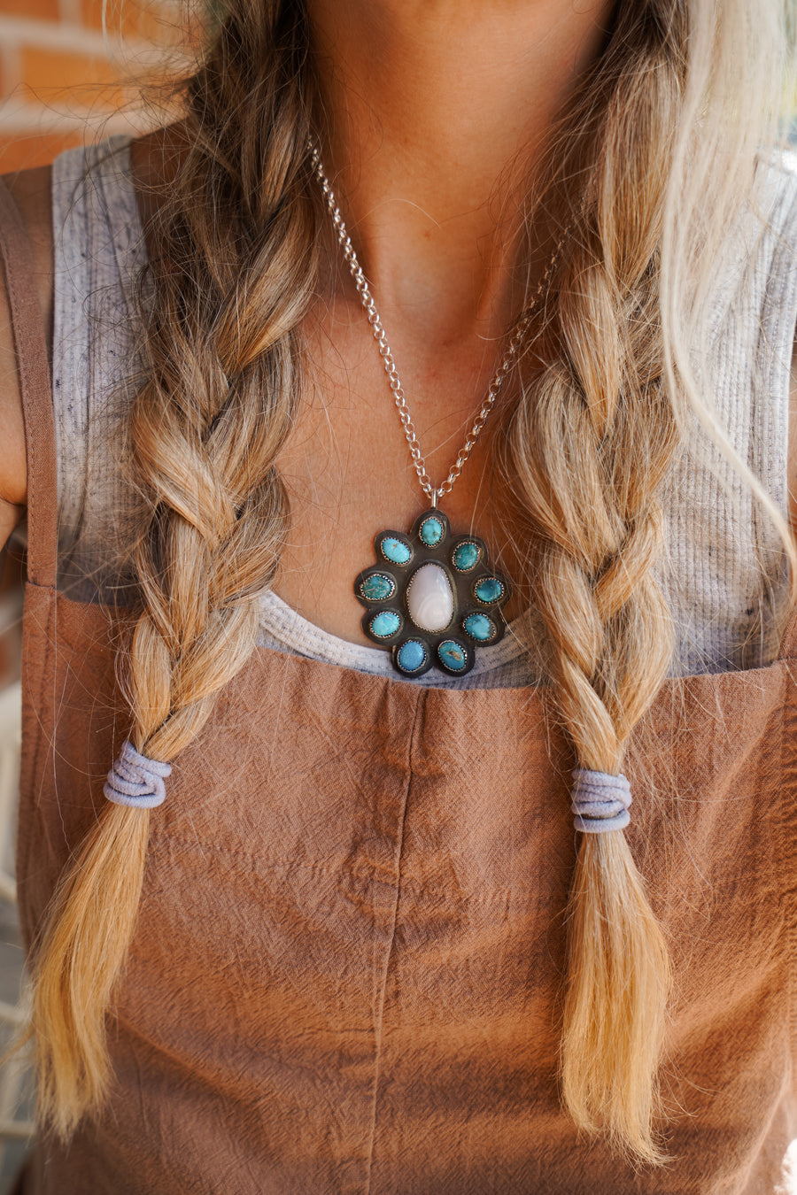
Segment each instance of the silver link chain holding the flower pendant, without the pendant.
[{"label": "silver link chain holding the flower pendant, without the pendant", "polygon": [[362,272],[362,266],[357,261],[357,255],[354,251],[354,245],[351,244],[351,238],[347,232],[347,226],[343,222],[343,216],[341,215],[341,209],[338,208],[337,200],[335,198],[335,192],[330,186],[330,180],[324,173],[324,164],[321,163],[321,155],[318,147],[311,141],[309,152],[313,163],[313,168],[315,171],[315,177],[321,185],[324,191],[324,198],[326,200],[326,206],[329,208],[330,215],[332,216],[332,223],[335,225],[335,231],[337,232],[338,240],[343,249],[343,256],[347,261],[349,270],[351,271],[351,277],[354,278],[354,284],[357,288],[357,294],[362,300],[362,306],[366,310],[368,317],[368,323],[370,324],[372,331],[374,333],[374,339],[379,348],[379,355],[382,358],[385,366],[385,373],[387,374],[387,380],[396,400],[396,406],[399,412],[399,418],[401,421],[401,427],[404,428],[404,435],[406,436],[406,442],[410,447],[410,455],[412,456],[412,464],[415,471],[418,474],[418,482],[421,483],[421,489],[427,495],[433,507],[437,505],[437,500],[443,495],[449,494],[454,482],[462,472],[465,462],[473,452],[476,443],[482,434],[484,424],[488,422],[490,412],[496,404],[496,399],[503,385],[503,380],[515,363],[515,358],[520,350],[521,344],[528,331],[528,326],[532,323],[532,315],[537,306],[537,301],[545,289],[547,289],[548,280],[553,271],[553,268],[558,261],[562,246],[568,237],[569,228],[565,229],[563,235],[559,238],[553,253],[551,255],[548,263],[546,265],[545,272],[540,278],[537,290],[532,296],[532,301],[528,307],[523,311],[520,319],[515,325],[515,331],[507,345],[503,357],[501,358],[501,364],[495,372],[492,381],[488,387],[488,393],[484,402],[479,409],[476,419],[473,421],[473,427],[465,437],[465,443],[459,451],[456,460],[448,471],[448,477],[441,485],[435,488],[431,483],[431,478],[427,472],[427,462],[424,460],[423,453],[421,452],[421,445],[418,442],[418,436],[415,430],[415,423],[412,422],[412,416],[410,415],[410,409],[406,405],[406,398],[404,396],[404,387],[398,375],[398,369],[396,368],[396,361],[393,360],[393,354],[391,353],[391,347],[387,343],[387,337],[385,335],[385,329],[382,327],[382,320],[376,311],[376,304],[374,302],[374,296],[370,293],[366,276]]}]

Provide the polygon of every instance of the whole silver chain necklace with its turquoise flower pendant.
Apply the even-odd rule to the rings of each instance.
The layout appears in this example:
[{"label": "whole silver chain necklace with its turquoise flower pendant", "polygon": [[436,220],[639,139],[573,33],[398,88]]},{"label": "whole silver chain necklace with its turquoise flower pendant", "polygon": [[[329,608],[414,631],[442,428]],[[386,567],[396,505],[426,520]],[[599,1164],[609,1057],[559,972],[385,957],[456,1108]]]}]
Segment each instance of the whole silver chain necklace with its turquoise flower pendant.
[{"label": "whole silver chain necklace with its turquoise flower pendant", "polygon": [[502,572],[490,568],[484,540],[452,532],[437,502],[450,492],[490,417],[532,323],[535,301],[547,287],[566,232],[548,259],[532,304],[517,320],[456,460],[446,479],[435,486],[427,472],[381,317],[324,172],[320,153],[312,141],[309,152],[343,257],[385,366],[421,489],[429,498],[428,509],[418,515],[407,534],[388,529],[376,535],[378,563],[363,569],[354,583],[357,601],[366,607],[362,629],[373,643],[391,649],[393,667],[403,676],[421,676],[433,666],[450,676],[464,676],[476,662],[477,648],[503,638],[507,624],[502,607],[511,595],[511,586]]}]

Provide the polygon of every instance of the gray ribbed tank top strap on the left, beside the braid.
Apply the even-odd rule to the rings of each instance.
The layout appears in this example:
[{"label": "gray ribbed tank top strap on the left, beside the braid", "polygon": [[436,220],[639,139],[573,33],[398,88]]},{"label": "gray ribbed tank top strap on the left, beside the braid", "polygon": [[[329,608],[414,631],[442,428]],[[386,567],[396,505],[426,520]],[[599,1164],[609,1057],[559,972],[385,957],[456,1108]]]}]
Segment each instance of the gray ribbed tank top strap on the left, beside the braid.
[{"label": "gray ribbed tank top strap on the left, beside the braid", "polygon": [[124,412],[136,385],[135,275],[146,262],[114,137],[53,164],[53,397],[59,467],[59,587],[124,601],[118,560],[135,497],[122,483]]}]

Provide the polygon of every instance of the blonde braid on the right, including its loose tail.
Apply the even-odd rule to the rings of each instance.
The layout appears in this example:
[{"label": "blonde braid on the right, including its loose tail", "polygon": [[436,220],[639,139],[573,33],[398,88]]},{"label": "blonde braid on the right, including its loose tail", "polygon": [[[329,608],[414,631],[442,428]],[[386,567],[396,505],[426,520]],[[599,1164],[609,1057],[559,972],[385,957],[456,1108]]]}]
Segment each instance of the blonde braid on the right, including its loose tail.
[{"label": "blonde braid on the right, including its loose tail", "polygon": [[[565,154],[570,177],[586,172],[596,186],[560,265],[554,350],[510,416],[507,445],[534,543],[529,582],[550,641],[552,701],[578,765],[609,773],[670,661],[651,569],[662,546],[657,495],[679,443],[662,378],[657,262],[680,79],[662,26],[630,7],[580,121],[594,125],[591,146],[580,147],[594,157]],[[581,838],[568,925],[564,1103],[580,1128],[661,1162],[651,1119],[668,951],[623,831]]]}]

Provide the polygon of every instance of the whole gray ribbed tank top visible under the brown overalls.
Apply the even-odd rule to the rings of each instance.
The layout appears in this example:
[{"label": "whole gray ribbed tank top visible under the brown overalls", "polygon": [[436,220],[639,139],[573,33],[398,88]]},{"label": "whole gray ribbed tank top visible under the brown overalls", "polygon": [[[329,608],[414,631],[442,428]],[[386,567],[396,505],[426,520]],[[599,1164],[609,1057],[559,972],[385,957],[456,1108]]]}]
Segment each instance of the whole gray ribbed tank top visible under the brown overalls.
[{"label": "whole gray ribbed tank top visible under the brown overalls", "polygon": [[[748,217],[728,239],[701,374],[731,445],[787,513],[790,363],[797,324],[797,163],[767,172],[767,227]],[[124,601],[123,545],[135,502],[118,462],[135,391],[134,284],[146,263],[129,139],[72,149],[53,166],[55,293],[53,393],[59,466],[59,584],[84,601]],[[663,496],[667,552],[660,580],[676,625],[676,675],[759,667],[774,658],[785,600],[780,541],[734,468],[695,429]],[[480,649],[462,680],[440,687],[535,684],[541,626],[534,612]],[[368,673],[390,654],[321,631],[276,594],[262,598],[260,644]]]}]

